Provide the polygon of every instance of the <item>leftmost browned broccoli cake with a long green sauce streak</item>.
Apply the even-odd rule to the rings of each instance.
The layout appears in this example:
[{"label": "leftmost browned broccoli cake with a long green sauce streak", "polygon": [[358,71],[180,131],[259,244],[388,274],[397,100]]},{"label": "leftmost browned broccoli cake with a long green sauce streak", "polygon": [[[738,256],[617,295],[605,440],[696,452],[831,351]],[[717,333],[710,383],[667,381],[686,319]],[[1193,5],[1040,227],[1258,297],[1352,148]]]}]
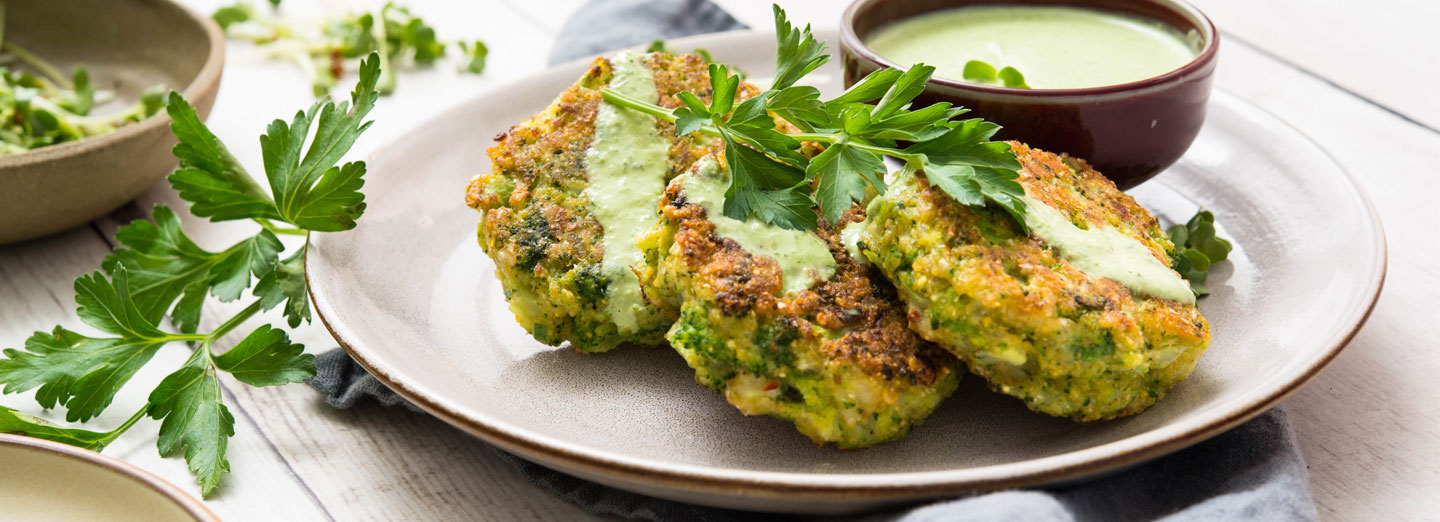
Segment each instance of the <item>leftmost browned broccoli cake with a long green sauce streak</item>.
[{"label": "leftmost browned broccoli cake with a long green sauce streak", "polygon": [[[662,107],[678,107],[681,91],[707,102],[711,92],[696,56],[598,58],[550,107],[495,138],[492,169],[465,192],[516,319],[543,343],[583,352],[662,342],[671,317],[641,294],[635,238],[655,224],[665,183],[723,147],[605,102],[606,87]],[[756,92],[743,84],[737,98]]]}]

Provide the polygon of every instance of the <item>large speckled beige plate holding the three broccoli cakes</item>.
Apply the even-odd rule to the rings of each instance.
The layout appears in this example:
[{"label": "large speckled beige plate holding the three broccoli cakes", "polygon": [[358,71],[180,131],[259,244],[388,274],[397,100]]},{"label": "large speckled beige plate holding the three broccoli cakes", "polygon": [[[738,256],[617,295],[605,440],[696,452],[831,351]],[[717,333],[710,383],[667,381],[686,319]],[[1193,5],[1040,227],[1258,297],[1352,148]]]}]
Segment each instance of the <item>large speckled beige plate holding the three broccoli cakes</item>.
[{"label": "large speckled beige plate holding the three broccoli cakes", "polygon": [[[703,46],[752,75],[772,37]],[[1149,411],[1074,424],[968,378],[909,437],[818,448],[785,421],[744,417],[672,350],[582,355],[533,342],[475,244],[464,187],[495,133],[573,82],[570,63],[477,95],[370,162],[360,226],[312,238],[315,310],[336,339],[426,411],[526,459],[622,489],[704,505],[844,512],[965,492],[1080,480],[1215,435],[1313,378],[1364,323],[1385,273],[1365,195],[1315,143],[1217,92],[1194,149],[1133,190],[1162,218],[1212,209],[1231,262],[1202,300],[1214,343]],[[819,75],[834,94],[838,69]],[[383,123],[382,123],[383,124]]]}]

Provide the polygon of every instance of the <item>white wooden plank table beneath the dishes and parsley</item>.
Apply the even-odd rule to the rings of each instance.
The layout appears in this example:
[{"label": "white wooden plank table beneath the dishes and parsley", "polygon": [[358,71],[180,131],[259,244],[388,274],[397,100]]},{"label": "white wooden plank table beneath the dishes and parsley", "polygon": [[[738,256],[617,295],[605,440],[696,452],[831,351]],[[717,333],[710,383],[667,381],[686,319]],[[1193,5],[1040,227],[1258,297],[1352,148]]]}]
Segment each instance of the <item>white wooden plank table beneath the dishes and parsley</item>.
[{"label": "white wooden plank table beneath the dishes and parsley", "polygon": [[[219,4],[186,1],[206,13]],[[543,69],[560,26],[582,1],[408,1],[442,37],[490,43],[488,69],[480,78],[455,74],[454,63],[402,74],[351,156],[364,157],[454,101]],[[1440,193],[1440,1],[1195,1],[1224,33],[1218,87],[1328,149],[1369,192],[1390,239],[1390,278],[1369,323],[1326,372],[1286,401],[1320,513],[1440,516],[1440,316],[1428,301],[1440,293],[1440,271],[1433,270],[1440,219],[1431,211]],[[770,26],[768,1],[720,3],[753,27]],[[301,12],[353,6],[287,4]],[[837,25],[844,7],[840,0],[782,4],[792,19],[816,26]],[[289,65],[268,62],[245,45],[232,45],[228,62],[209,124],[251,172],[261,172],[256,137],[271,118],[308,105],[310,89]],[[0,247],[0,346],[19,346],[36,329],[78,326],[71,281],[99,265],[117,226],[156,203],[184,208],[161,182],[91,226]],[[1283,198],[1274,203],[1284,205]],[[189,215],[186,229],[202,247],[249,234],[245,225]],[[230,311],[207,307],[212,323]],[[259,320],[281,322],[274,313]],[[314,353],[334,346],[318,324],[302,326],[295,337]],[[140,408],[163,371],[184,356],[183,348],[161,350],[154,371],[141,372],[98,425],[115,425]],[[423,414],[377,405],[337,411],[304,385],[225,386],[236,417],[233,473],[207,500],[225,519],[588,519],[526,483],[485,444]],[[0,404],[37,412],[29,395],[0,397]],[[107,454],[194,492],[183,460],[156,454],[156,423],[141,423]]]}]

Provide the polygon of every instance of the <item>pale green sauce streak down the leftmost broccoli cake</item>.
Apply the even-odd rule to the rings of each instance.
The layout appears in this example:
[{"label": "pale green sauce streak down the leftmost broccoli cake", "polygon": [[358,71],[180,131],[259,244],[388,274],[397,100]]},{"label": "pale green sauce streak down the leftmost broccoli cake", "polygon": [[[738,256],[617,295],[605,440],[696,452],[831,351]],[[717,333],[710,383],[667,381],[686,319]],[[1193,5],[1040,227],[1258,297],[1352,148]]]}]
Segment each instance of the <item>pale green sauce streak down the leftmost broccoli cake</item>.
[{"label": "pale green sauce streak down the leftmost broccoli cake", "polygon": [[[657,101],[655,76],[645,56],[622,52],[611,59],[609,87],[636,99]],[[621,332],[635,332],[645,298],[631,265],[645,262],[635,245],[655,225],[657,200],[665,190],[670,143],[655,128],[655,118],[629,108],[600,102],[595,115],[595,138],[586,154],[590,183],[590,215],[603,228],[605,260],[600,271],[609,278],[605,311]]]}]

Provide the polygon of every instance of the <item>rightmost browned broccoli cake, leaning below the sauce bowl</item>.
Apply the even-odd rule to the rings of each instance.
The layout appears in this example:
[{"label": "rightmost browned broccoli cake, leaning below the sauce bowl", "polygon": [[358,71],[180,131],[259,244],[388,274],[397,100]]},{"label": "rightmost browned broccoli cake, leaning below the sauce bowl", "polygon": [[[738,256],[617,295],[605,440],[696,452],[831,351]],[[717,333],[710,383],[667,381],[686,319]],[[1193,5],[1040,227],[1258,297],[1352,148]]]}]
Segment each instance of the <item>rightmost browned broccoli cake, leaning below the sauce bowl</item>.
[{"label": "rightmost browned broccoli cake, leaning below the sauce bowl", "polygon": [[[899,288],[910,326],[1034,411],[1132,415],[1210,343],[1159,222],[1084,162],[1011,143],[1027,234],[901,172],[855,247]],[[847,236],[851,231],[847,229]]]}]

